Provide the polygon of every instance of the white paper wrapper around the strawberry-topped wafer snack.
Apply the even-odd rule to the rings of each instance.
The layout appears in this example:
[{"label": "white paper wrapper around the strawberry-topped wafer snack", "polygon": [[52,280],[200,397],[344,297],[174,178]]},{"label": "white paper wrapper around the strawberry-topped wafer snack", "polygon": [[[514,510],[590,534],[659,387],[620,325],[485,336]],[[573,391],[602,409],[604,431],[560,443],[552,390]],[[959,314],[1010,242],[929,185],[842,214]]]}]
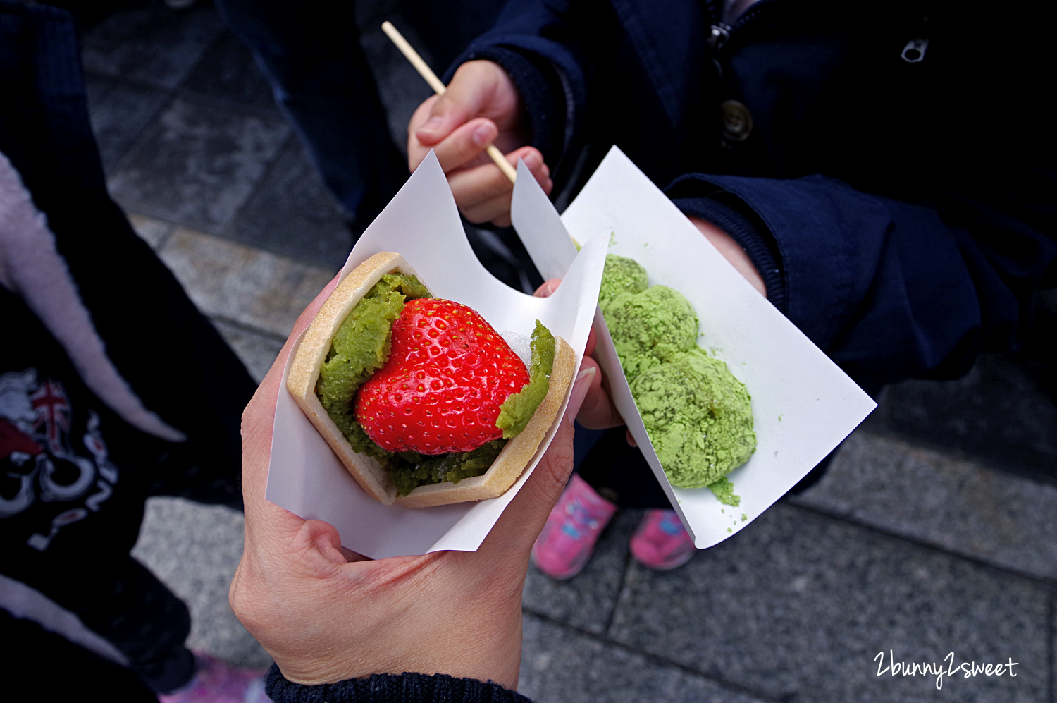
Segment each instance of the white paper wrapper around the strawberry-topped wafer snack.
[{"label": "white paper wrapper around the strawberry-topped wafer snack", "polygon": [[[532,175],[519,183],[525,181],[533,181]],[[536,185],[535,181],[532,184]],[[556,220],[557,212],[545,197],[543,203],[523,217]],[[576,351],[579,365],[606,263],[604,238],[568,260],[568,276],[551,297],[534,298],[515,291],[494,278],[477,260],[444,172],[430,152],[360,237],[341,275],[378,252],[402,254],[433,295],[469,306],[496,330],[531,334],[535,320],[541,320]],[[499,498],[410,510],[383,505],[359,488],[286,392],[289,373],[290,362],[276,404],[265,495],[304,519],[330,522],[337,528],[346,548],[373,558],[476,550],[550,445],[564,410],[562,404],[562,411],[528,467]]]}]

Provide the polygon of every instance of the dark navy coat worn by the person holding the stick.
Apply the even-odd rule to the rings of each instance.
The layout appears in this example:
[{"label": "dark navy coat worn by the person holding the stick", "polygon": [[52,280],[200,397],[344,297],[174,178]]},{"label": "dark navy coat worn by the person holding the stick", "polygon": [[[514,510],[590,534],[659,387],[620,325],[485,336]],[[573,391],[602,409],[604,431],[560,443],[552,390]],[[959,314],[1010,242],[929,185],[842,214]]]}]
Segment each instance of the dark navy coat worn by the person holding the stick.
[{"label": "dark navy coat worn by the person holding the stick", "polygon": [[1031,12],[762,0],[727,26],[711,0],[513,0],[461,60],[511,73],[559,183],[616,144],[875,390],[1016,348],[1057,285]]}]

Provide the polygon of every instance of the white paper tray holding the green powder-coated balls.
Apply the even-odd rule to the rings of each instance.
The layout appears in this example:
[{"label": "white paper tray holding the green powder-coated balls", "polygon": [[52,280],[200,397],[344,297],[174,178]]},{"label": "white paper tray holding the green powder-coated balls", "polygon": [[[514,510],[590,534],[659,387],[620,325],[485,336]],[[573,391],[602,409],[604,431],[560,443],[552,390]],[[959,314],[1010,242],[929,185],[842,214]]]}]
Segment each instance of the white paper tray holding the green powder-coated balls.
[{"label": "white paper tray holding the green powder-coated balls", "polygon": [[[752,522],[876,407],[619,149],[606,156],[561,222],[531,216],[541,196],[516,189],[512,212],[519,233],[533,233],[535,241],[526,247],[544,277],[560,276],[573,260],[569,235],[579,242],[606,238],[611,254],[646,266],[650,284],[663,283],[686,296],[700,319],[699,345],[726,362],[753,396],[756,454],[728,476],[741,504],[723,505],[708,488],[673,487],[650,445],[598,315],[595,357],[610,380],[613,401],[698,549],[712,547]],[[568,234],[559,230],[561,223]]]}]

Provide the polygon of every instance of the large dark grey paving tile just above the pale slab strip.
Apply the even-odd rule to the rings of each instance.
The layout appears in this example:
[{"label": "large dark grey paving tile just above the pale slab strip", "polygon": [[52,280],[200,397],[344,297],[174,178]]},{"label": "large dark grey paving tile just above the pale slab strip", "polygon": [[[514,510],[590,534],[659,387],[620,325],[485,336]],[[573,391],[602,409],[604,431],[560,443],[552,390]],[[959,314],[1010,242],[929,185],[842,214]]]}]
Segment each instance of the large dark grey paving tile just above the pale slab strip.
[{"label": "large dark grey paving tile just above the pale slab strip", "polygon": [[223,232],[290,136],[281,117],[175,98],[110,178],[128,209]]}]

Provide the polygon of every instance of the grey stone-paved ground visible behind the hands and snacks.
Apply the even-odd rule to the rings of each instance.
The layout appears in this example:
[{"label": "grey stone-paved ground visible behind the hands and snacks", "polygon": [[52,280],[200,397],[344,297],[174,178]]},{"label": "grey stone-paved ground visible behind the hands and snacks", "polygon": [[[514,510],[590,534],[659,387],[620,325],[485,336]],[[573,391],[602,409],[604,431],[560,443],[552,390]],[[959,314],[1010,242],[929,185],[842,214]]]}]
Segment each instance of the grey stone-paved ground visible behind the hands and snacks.
[{"label": "grey stone-paved ground visible behind the hands and snacks", "polygon": [[[375,3],[363,20],[387,12]],[[381,33],[364,42],[400,135],[428,89]],[[87,33],[84,57],[114,197],[260,377],[342,262],[345,216],[210,6],[117,11]],[[630,560],[629,513],[578,577],[531,572],[521,690],[549,703],[1052,703],[1053,303],[1034,350],[890,389],[821,483],[685,568]],[[231,511],[154,500],[135,554],[190,604],[192,646],[264,665],[227,608],[241,531]],[[887,665],[889,651],[1012,658],[1018,676],[938,690],[928,677],[878,677],[874,658]]]}]

